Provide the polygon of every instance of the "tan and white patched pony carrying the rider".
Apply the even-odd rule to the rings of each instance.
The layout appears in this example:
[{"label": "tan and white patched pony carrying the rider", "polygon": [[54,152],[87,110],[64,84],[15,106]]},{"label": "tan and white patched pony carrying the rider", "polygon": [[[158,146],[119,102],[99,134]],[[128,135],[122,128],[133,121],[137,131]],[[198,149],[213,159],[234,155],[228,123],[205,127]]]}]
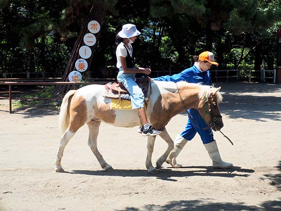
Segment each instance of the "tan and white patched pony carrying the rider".
[{"label": "tan and white patched pony carrying the rider", "polygon": [[[213,130],[223,127],[219,112],[222,96],[219,88],[180,81],[154,81],[150,79],[150,97],[146,108],[148,122],[162,130],[159,136],[168,144],[164,154],[152,165],[151,157],[156,136],[148,136],[145,166],[148,173],[158,173],[173,149],[173,141],[165,126],[171,118],[187,109],[195,108]],[[63,150],[77,130],[84,124],[89,128],[88,146],[90,146],[100,166],[105,171],[113,171],[97,148],[97,136],[101,122],[117,127],[140,126],[138,110],[114,110],[110,108],[111,99],[104,97],[105,85],[87,85],[78,90],[70,90],[62,99],[59,114],[60,146],[56,156],[55,171],[64,172],[61,161]],[[137,134],[137,132],[136,132]]]}]

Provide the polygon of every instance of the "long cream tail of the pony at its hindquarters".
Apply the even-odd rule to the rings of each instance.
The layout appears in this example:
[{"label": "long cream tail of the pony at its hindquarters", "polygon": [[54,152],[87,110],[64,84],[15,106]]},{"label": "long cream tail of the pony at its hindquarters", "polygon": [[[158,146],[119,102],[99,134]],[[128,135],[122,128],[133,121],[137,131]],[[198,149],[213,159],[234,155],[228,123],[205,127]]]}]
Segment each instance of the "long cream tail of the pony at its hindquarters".
[{"label": "long cream tail of the pony at its hindquarters", "polygon": [[60,115],[59,115],[59,130],[60,130],[61,136],[69,126],[69,116],[70,116],[69,115],[69,105],[70,105],[70,101],[75,93],[76,93],[76,90],[70,90],[69,92],[66,93],[66,95],[62,99],[62,105],[61,105],[61,110],[60,110]]}]

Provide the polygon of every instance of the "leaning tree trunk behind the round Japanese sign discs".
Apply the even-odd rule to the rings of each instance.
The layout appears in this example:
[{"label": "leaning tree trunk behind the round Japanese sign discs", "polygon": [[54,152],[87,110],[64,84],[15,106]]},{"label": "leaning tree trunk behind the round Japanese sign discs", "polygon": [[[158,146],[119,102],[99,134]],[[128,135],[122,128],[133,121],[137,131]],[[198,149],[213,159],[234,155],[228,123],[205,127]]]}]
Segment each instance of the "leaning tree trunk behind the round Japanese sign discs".
[{"label": "leaning tree trunk behind the round Japanese sign discs", "polygon": [[[86,33],[88,33],[88,23],[92,20],[96,20],[99,24],[100,24],[100,28],[102,28],[104,19],[106,17],[107,14],[107,9],[104,5],[101,4],[93,4],[92,8],[89,12],[89,15],[85,18],[84,24],[81,28],[81,31],[78,35],[78,38],[75,42],[74,48],[71,52],[71,55],[69,57],[67,66],[65,68],[65,71],[63,73],[62,76],[62,80],[61,81],[68,81],[68,75],[70,72],[75,70],[75,62],[77,61],[77,59],[80,57],[79,56],[79,49],[81,46],[84,46],[84,40],[83,37]],[[96,43],[94,44],[94,46],[89,46],[90,49],[92,50],[92,55],[90,58],[86,59],[87,63],[88,63],[88,70],[89,71],[90,67],[91,67],[91,63],[93,60],[93,55],[94,55],[94,49],[97,45],[97,41],[98,41],[98,37],[99,37],[100,31],[95,33],[95,37],[96,37]],[[86,72],[85,71],[85,72]],[[85,74],[85,73],[84,73]],[[65,94],[68,90],[69,90],[69,86],[65,86],[65,85],[57,85],[55,90],[54,90],[54,95],[57,94]]]}]

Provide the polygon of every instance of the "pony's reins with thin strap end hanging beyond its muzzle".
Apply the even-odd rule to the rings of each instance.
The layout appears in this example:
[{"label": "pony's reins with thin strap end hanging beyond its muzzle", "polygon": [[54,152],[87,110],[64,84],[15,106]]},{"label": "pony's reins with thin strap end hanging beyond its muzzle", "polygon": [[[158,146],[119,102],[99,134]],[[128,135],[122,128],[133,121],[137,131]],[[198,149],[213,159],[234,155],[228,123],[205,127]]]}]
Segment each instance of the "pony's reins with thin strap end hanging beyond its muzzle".
[{"label": "pony's reins with thin strap end hanging beyond its muzzle", "polygon": [[[215,124],[214,122],[217,120],[217,117],[216,117],[216,116],[212,116],[211,112],[209,112],[209,110],[208,110],[209,103],[207,103],[207,102],[210,101],[210,96],[209,96],[208,98],[206,97],[207,99],[205,100],[205,102],[204,102],[204,104],[203,104],[203,106],[205,106],[205,110],[204,110],[204,114],[202,115],[202,118],[203,118],[203,120],[206,122],[206,120],[204,119],[204,117],[205,117],[206,114],[208,114],[208,115],[211,116],[211,119],[212,119],[212,120],[211,120],[211,122],[210,122],[209,124],[206,122],[206,125],[208,125],[208,127],[206,127],[206,128],[201,128],[201,127],[199,127],[199,126],[195,123],[195,121],[193,120],[193,118],[192,118],[191,115],[189,114],[189,112],[188,112],[188,110],[187,110],[187,107],[185,106],[184,100],[183,100],[183,98],[182,98],[182,96],[181,96],[181,94],[180,94],[180,89],[179,89],[177,83],[176,83],[176,87],[177,87],[177,90],[178,90],[178,93],[179,93],[181,102],[182,102],[182,104],[183,104],[183,107],[184,107],[184,109],[185,109],[185,111],[186,111],[186,113],[187,113],[189,119],[192,121],[192,123],[193,123],[197,128],[200,128],[200,129],[202,129],[202,130],[207,130],[207,129],[209,129],[209,128],[214,128],[214,127],[216,126],[216,124]],[[213,97],[213,96],[211,96],[211,97]],[[203,106],[201,106],[201,107],[198,108],[198,109],[201,109]],[[219,130],[219,132],[220,132],[225,138],[227,138],[227,140],[233,145],[233,142],[232,142],[225,134],[223,134],[223,132],[221,132],[220,130]]]}]

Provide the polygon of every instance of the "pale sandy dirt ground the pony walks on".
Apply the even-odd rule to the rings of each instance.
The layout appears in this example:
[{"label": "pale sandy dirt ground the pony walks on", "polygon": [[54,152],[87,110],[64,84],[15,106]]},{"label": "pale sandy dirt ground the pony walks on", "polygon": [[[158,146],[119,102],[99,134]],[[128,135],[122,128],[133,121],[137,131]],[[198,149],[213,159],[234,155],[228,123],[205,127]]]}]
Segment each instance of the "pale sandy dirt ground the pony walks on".
[{"label": "pale sandy dirt ground the pony walks on", "polygon": [[[0,211],[281,211],[281,84],[218,83],[224,132],[214,132],[223,160],[211,167],[196,135],[178,157],[181,169],[145,169],[146,138],[137,128],[101,125],[99,150],[115,169],[105,172],[82,127],[64,151],[65,173],[54,171],[58,112],[32,108],[9,114],[0,99]],[[177,115],[172,138],[186,124]],[[156,138],[153,163],[167,145]]]}]

